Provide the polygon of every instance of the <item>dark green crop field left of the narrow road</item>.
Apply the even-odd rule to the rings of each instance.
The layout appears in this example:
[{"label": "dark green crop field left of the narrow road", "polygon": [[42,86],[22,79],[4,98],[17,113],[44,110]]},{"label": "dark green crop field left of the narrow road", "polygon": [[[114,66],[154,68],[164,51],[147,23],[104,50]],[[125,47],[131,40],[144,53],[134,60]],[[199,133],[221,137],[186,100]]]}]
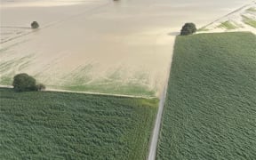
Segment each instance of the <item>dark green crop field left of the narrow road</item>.
[{"label": "dark green crop field left of the narrow road", "polygon": [[0,159],[146,159],[157,103],[0,88]]}]

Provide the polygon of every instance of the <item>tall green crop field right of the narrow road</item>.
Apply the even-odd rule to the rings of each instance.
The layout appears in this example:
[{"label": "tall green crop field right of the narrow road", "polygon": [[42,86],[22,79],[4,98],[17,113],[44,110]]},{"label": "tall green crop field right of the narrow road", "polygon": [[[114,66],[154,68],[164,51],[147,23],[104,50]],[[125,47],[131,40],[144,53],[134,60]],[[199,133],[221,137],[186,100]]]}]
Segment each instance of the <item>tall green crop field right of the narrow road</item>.
[{"label": "tall green crop field right of the narrow road", "polygon": [[256,159],[256,36],[178,36],[157,159]]}]

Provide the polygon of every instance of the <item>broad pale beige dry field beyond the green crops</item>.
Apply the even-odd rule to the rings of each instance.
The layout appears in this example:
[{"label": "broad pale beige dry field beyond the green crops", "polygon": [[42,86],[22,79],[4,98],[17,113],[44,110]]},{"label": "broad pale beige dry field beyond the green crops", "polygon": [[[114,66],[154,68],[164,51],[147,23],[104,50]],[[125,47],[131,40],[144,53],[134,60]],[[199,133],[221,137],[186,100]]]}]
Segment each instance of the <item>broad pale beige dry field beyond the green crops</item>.
[{"label": "broad pale beige dry field beyond the green crops", "polygon": [[248,2],[1,0],[0,84],[26,72],[51,89],[159,96],[181,26]]}]

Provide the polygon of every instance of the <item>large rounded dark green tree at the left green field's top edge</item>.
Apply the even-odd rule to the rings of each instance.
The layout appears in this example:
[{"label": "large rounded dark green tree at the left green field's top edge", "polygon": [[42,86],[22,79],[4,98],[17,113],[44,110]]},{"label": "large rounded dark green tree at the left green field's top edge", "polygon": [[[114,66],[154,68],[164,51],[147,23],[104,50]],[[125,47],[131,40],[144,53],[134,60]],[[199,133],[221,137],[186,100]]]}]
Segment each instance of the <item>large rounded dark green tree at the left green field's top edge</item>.
[{"label": "large rounded dark green tree at the left green field's top edge", "polygon": [[14,76],[12,85],[16,92],[36,91],[36,79],[26,73]]}]

